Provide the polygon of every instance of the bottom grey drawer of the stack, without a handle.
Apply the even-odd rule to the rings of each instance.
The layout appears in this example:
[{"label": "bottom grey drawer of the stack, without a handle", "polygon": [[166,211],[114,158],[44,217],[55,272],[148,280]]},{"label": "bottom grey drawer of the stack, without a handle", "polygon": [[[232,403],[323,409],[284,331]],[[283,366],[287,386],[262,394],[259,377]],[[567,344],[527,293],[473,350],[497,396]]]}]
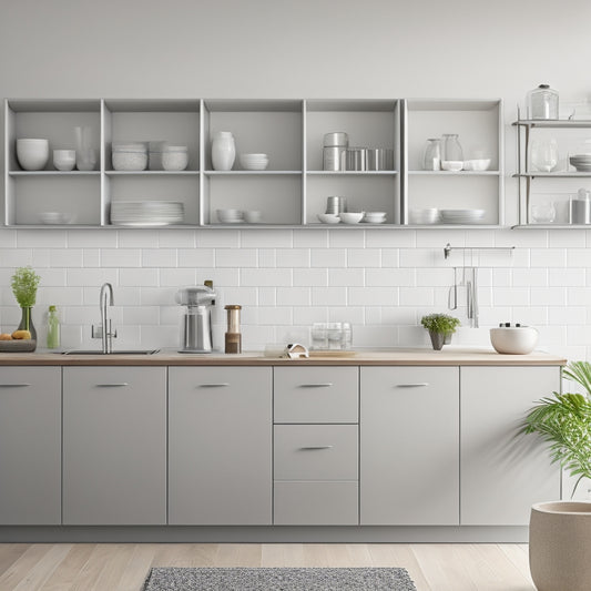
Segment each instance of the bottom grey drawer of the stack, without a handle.
[{"label": "bottom grey drawer of the stack, without a handle", "polygon": [[275,526],[357,526],[358,485],[275,482]]}]

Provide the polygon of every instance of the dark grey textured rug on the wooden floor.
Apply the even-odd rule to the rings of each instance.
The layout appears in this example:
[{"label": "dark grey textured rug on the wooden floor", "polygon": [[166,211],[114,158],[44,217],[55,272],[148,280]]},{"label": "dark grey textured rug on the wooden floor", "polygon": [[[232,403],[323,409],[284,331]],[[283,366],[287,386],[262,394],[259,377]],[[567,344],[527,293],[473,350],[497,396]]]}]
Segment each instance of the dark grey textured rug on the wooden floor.
[{"label": "dark grey textured rug on the wooden floor", "polygon": [[155,568],[144,591],[417,591],[405,569]]}]

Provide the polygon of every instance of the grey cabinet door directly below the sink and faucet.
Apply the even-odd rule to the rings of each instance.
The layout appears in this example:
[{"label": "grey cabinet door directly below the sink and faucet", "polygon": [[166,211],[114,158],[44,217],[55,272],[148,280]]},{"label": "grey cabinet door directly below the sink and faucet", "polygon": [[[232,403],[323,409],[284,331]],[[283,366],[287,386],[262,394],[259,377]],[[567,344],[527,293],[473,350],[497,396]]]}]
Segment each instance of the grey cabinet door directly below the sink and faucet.
[{"label": "grey cabinet door directly below the sink and faucet", "polygon": [[166,523],[166,368],[63,369],[64,524]]}]

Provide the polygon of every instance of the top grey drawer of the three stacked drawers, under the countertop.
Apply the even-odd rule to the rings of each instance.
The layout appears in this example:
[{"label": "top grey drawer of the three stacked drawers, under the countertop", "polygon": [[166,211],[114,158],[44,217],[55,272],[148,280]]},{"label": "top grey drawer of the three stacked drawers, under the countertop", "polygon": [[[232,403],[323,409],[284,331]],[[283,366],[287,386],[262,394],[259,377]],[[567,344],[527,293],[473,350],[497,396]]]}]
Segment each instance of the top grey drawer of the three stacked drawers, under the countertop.
[{"label": "top grey drawer of the three stacked drawers, under the countertop", "polygon": [[276,367],[275,422],[357,422],[357,367]]}]

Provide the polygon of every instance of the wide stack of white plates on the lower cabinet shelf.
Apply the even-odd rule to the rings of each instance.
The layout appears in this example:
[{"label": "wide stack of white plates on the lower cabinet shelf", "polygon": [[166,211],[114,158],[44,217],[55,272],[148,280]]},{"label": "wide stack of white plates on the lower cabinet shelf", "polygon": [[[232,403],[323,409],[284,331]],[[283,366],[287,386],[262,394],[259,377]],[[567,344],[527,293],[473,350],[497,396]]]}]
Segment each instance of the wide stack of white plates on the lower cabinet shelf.
[{"label": "wide stack of white plates on the lower cabinet shelf", "polygon": [[182,224],[184,204],[176,201],[114,201],[111,223],[120,226],[167,226]]}]

